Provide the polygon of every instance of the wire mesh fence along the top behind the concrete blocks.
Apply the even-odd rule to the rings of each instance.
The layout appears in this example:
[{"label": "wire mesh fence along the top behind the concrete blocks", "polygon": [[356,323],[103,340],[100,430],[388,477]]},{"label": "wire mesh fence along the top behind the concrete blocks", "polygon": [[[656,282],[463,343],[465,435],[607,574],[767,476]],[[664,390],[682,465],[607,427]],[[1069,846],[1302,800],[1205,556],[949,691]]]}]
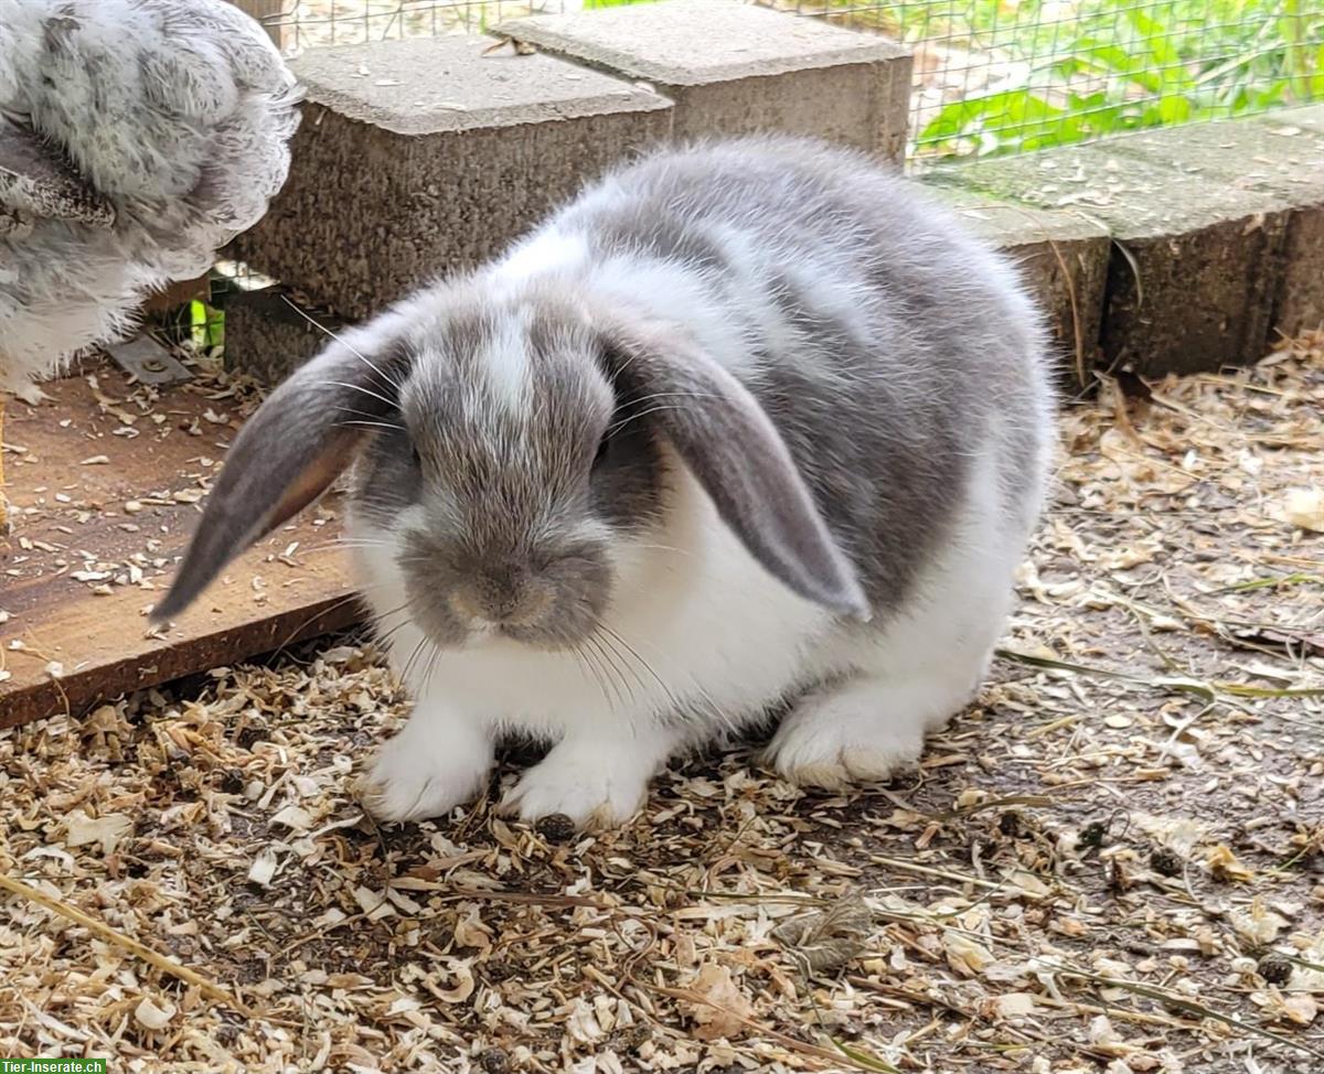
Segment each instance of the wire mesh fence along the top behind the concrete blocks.
[{"label": "wire mesh fence along the top behind the concrete blocks", "polygon": [[[653,0],[248,0],[287,50]],[[915,50],[912,159],[1005,155],[1324,98],[1324,0],[755,0]],[[261,13],[261,12],[260,12]]]}]

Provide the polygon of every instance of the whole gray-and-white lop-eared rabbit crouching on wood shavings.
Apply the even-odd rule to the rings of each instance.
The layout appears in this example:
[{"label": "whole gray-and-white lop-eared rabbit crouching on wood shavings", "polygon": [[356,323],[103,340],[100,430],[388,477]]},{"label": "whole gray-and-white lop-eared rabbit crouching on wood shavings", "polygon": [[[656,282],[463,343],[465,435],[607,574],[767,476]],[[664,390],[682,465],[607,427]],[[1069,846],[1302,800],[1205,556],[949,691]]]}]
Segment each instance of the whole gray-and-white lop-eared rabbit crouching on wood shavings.
[{"label": "whole gray-and-white lop-eared rabbit crouching on wood shavings", "polygon": [[790,139],[663,151],[295,373],[229,452],[158,618],[357,459],[359,581],[414,697],[364,784],[620,823],[788,701],[784,776],[912,766],[985,673],[1051,390],[1010,266],[907,181]]}]

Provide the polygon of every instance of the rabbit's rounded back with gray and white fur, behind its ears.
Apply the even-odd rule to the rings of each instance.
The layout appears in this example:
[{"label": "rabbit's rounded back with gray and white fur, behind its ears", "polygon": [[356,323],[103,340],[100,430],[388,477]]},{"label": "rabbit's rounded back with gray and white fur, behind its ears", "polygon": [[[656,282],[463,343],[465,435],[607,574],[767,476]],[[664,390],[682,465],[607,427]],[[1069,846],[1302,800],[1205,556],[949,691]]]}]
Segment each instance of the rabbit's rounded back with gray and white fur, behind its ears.
[{"label": "rabbit's rounded back with gray and white fur, behind its ears", "polygon": [[687,327],[772,417],[876,607],[957,540],[976,475],[997,485],[990,522],[1023,540],[1051,409],[1039,317],[906,179],[744,139],[647,157],[551,226],[587,249],[587,286],[685,291]]}]

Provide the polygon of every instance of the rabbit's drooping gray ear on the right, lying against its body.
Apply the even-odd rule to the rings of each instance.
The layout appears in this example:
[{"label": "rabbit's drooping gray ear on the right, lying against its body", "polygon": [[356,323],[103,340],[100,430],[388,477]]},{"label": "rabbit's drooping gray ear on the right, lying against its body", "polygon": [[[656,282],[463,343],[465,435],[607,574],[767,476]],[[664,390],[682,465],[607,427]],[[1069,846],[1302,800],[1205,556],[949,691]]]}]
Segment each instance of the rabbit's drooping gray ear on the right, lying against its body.
[{"label": "rabbit's drooping gray ear on the right, lying against its body", "polygon": [[801,597],[867,620],[854,567],[755,397],[666,327],[617,321],[602,340],[617,390],[639,401],[749,553]]}]

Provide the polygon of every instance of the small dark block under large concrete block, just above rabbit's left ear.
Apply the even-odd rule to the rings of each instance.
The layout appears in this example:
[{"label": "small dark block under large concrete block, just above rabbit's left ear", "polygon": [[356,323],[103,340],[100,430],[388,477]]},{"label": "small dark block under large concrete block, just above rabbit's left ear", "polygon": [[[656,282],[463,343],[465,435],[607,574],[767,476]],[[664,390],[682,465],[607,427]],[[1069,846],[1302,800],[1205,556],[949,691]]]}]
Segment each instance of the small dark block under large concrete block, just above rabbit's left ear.
[{"label": "small dark block under large concrete block, just above rabbit's left ear", "polygon": [[[225,365],[277,385],[330,343],[342,327],[324,311],[290,308],[289,291],[263,287],[225,298]],[[311,324],[310,319],[316,321]],[[322,328],[318,328],[322,325]],[[327,331],[322,331],[322,329]]]}]

